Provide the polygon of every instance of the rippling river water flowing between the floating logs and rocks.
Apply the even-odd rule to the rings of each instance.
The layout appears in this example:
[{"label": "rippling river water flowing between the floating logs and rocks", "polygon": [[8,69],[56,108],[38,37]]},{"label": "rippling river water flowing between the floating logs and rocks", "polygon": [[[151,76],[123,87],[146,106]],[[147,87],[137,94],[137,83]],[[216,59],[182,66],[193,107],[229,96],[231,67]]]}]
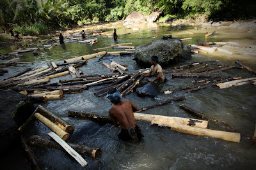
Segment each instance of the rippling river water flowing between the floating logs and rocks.
[{"label": "rippling river water flowing between the floating logs and rocks", "polygon": [[[131,32],[131,34],[119,35],[118,43],[132,43],[132,46],[150,43],[154,39],[162,38],[164,35],[172,34],[173,38],[193,38],[184,43],[196,43],[196,39],[207,42],[236,42],[239,45],[251,46],[252,48],[237,48],[225,46],[223,49],[232,52],[243,53],[242,55],[230,55],[224,52],[199,53],[193,54],[189,61],[220,60],[223,64],[234,65],[235,60],[239,59],[248,66],[256,69],[256,32],[239,33],[237,29],[199,29],[184,26],[177,29],[170,24],[145,24],[135,25],[140,30],[124,29],[121,25],[117,27],[117,34]],[[166,31],[177,29],[175,31]],[[152,31],[155,30],[155,31]],[[113,32],[113,28],[105,31]],[[205,38],[205,32],[216,31],[214,36]],[[189,34],[188,32],[194,32]],[[154,37],[154,38],[152,38]],[[147,39],[139,39],[147,38]],[[66,43],[65,45],[54,46],[51,50],[40,50],[38,56],[32,52],[24,53],[20,61],[34,62],[33,65],[18,64],[8,67],[8,73],[4,73],[1,78],[7,78],[19,73],[27,67],[38,69],[47,66],[48,61],[56,63],[63,62],[65,59],[95,53],[94,48],[102,48],[114,44],[113,38],[98,37],[97,45],[86,45],[79,43]],[[5,48],[1,53],[8,53],[14,50],[15,46]],[[115,51],[114,49],[107,50]],[[116,50],[120,51],[120,50]],[[116,61],[127,64],[129,71],[134,73],[142,66],[136,64],[133,57],[115,57]],[[150,60],[150,56],[148,56]],[[104,60],[109,62],[109,60]],[[182,66],[189,61],[173,64],[172,66]],[[109,62],[110,63],[110,62]],[[79,67],[84,74],[110,73],[106,67],[102,66],[102,61],[98,58],[89,59],[88,63]],[[236,65],[236,64],[235,64]],[[172,67],[170,66],[170,67]],[[237,65],[236,65],[237,66]],[[254,75],[245,69],[230,69],[220,72],[223,77],[250,78]],[[157,108],[153,108],[143,113],[166,115],[170,117],[196,118],[186,111],[179,108],[184,104],[208,115],[225,122],[238,131],[253,136],[256,123],[256,88],[250,85],[230,87],[228,89],[216,89],[207,87],[206,89],[195,92],[175,92],[173,94],[163,94],[164,90],[177,87],[192,85],[193,78],[171,78],[171,74],[164,74],[168,81],[160,85],[161,93],[157,99],[150,97],[138,97],[132,92],[125,99],[130,99],[139,108],[156,104],[173,97],[185,96],[186,100],[174,102]],[[54,78],[51,82],[70,79],[70,75]],[[147,80],[147,79],[145,79]],[[84,157],[88,161],[88,166],[81,167],[76,160],[59,150],[49,148],[37,148],[32,146],[36,159],[43,169],[255,169],[256,166],[256,147],[251,141],[241,139],[240,143],[224,141],[222,139],[210,138],[205,136],[195,136],[172,131],[168,127],[157,127],[150,125],[149,122],[138,121],[145,137],[139,143],[120,141],[117,134],[119,127],[111,124],[99,125],[91,120],[67,117],[69,110],[93,111],[108,115],[108,110],[113,106],[106,97],[95,97],[93,92],[99,87],[90,87],[79,94],[64,94],[63,99],[47,101],[42,104],[59,117],[74,125],[75,131],[70,135],[68,142],[86,146],[99,147],[102,154],[93,160]],[[209,129],[224,131],[220,127],[209,122]],[[26,138],[33,134],[47,136],[50,132],[44,124],[34,122],[26,130]]]}]

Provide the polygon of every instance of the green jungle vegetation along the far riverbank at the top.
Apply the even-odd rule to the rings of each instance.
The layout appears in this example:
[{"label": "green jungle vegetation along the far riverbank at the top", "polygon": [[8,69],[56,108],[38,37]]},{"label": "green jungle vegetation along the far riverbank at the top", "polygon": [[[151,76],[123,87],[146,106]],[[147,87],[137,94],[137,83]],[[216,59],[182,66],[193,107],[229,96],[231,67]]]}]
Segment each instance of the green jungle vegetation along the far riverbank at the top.
[{"label": "green jungle vegetation along the far riverbank at the top", "polygon": [[241,20],[255,17],[254,1],[242,0],[1,0],[0,29],[21,34],[46,34],[50,29],[74,24],[122,20],[132,11],[149,15],[207,20]]}]

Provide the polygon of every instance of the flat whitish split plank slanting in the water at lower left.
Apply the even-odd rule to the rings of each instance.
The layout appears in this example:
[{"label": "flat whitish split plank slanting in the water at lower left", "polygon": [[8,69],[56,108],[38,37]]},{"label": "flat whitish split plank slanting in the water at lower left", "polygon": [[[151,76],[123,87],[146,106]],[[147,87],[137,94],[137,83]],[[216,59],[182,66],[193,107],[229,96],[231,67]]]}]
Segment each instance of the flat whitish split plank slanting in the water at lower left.
[{"label": "flat whitish split plank slanting in the water at lower left", "polygon": [[76,152],[76,150],[71,148],[58,135],[56,135],[54,132],[49,132],[48,135],[51,136],[51,138],[53,138],[58,144],[60,144],[72,157],[74,157],[74,159],[76,159],[81,166],[84,167],[87,165],[86,160],[84,160],[83,157],[81,157],[81,155],[79,155],[79,153]]}]

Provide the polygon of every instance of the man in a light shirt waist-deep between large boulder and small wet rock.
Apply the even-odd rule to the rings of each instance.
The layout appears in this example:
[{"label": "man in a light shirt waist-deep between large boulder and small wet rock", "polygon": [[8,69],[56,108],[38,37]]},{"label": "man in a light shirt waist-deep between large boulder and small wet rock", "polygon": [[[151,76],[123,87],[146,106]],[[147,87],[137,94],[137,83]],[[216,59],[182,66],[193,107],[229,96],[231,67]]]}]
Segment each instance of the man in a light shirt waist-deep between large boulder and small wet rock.
[{"label": "man in a light shirt waist-deep between large boulder and small wet rock", "polygon": [[151,57],[151,64],[152,66],[150,67],[150,71],[145,74],[145,77],[150,76],[151,73],[153,73],[153,75],[156,77],[153,80],[152,79],[148,79],[148,81],[159,81],[160,83],[163,83],[166,81],[166,78],[163,75],[163,69],[162,67],[158,64],[158,57],[157,56],[152,56]]}]

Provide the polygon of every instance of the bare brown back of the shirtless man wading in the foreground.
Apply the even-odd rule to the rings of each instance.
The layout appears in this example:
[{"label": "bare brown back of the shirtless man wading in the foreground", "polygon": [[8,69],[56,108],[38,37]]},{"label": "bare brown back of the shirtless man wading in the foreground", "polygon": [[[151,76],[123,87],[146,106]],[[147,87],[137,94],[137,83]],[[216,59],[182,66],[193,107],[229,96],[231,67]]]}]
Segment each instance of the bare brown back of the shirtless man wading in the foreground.
[{"label": "bare brown back of the shirtless man wading in the foreground", "polygon": [[129,100],[120,101],[109,110],[109,116],[113,124],[121,129],[128,130],[130,127],[136,127],[133,111],[139,108]]}]

